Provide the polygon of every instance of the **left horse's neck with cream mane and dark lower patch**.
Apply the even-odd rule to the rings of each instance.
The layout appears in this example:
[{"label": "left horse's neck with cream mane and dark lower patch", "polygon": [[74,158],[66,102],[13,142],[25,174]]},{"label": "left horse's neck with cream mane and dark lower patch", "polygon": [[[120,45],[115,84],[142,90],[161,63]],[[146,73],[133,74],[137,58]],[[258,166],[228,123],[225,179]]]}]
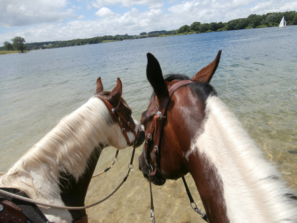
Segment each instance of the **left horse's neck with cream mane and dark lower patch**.
[{"label": "left horse's neck with cream mane and dark lower patch", "polygon": [[65,116],[16,162],[0,178],[0,185],[15,187],[31,198],[48,201],[60,199],[60,193],[64,193],[61,197],[67,200],[79,189],[82,193],[75,194],[72,205],[83,205],[101,150],[108,145],[112,123],[103,102],[90,99]]}]

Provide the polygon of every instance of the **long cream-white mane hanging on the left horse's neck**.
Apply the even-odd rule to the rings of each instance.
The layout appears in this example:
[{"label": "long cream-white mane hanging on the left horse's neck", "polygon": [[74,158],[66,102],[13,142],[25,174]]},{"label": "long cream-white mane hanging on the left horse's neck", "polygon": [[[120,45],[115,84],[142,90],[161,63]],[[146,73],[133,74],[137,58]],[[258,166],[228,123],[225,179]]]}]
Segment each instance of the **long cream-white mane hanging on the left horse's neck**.
[{"label": "long cream-white mane hanging on the left horse's neck", "polygon": [[35,188],[31,175],[36,172],[49,181],[58,181],[59,172],[71,172],[78,179],[85,172],[88,158],[95,148],[99,148],[99,143],[107,145],[112,123],[104,103],[99,98],[91,98],[63,117],[7,174],[1,176],[0,186],[27,192],[28,187]]}]

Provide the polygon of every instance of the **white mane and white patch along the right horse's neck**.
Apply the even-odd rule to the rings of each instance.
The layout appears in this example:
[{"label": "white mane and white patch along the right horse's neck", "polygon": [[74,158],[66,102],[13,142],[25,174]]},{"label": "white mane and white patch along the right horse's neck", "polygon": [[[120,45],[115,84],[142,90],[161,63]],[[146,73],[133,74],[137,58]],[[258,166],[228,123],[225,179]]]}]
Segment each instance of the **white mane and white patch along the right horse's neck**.
[{"label": "white mane and white patch along the right horse's neck", "polygon": [[207,99],[205,111],[204,131],[186,158],[198,152],[216,167],[230,222],[297,222],[295,192],[265,161],[235,115],[217,96]]}]

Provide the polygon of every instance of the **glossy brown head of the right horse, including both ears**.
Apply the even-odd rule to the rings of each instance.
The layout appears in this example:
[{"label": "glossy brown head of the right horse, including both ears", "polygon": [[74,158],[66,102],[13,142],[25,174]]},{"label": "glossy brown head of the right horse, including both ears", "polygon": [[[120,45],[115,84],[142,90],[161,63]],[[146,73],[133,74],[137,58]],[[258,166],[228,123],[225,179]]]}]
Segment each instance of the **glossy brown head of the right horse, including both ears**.
[{"label": "glossy brown head of the right horse, including both ears", "polygon": [[[193,81],[176,90],[168,104],[163,129],[160,129],[162,137],[159,139],[157,154],[151,155],[154,143],[150,143],[150,146],[144,147],[143,153],[139,156],[139,168],[144,176],[148,177],[149,172],[157,168],[152,182],[162,185],[167,178],[177,179],[189,172],[186,155],[190,151],[191,139],[203,131],[205,101],[210,95],[216,94],[209,82],[218,66],[221,51],[209,65],[202,68],[191,79],[185,75],[176,74],[168,75],[164,79],[157,59],[149,53],[147,56],[147,78],[154,90],[154,100],[151,100],[141,118],[147,140],[153,117],[157,112],[156,108],[164,98],[170,97],[168,89],[182,80]],[[157,158],[154,159],[154,157]]]}]

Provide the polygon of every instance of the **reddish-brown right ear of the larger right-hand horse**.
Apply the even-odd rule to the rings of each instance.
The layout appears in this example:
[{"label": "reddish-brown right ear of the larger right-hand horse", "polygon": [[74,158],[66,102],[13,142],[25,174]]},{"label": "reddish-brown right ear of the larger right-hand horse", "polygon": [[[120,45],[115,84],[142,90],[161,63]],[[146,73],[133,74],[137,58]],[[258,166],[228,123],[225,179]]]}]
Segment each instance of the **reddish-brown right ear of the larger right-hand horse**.
[{"label": "reddish-brown right ear of the larger right-hand horse", "polygon": [[218,55],[211,63],[202,68],[197,74],[195,74],[191,78],[191,80],[197,83],[209,83],[212,78],[212,75],[214,74],[216,68],[219,65],[221,54],[222,50],[219,51]]}]

